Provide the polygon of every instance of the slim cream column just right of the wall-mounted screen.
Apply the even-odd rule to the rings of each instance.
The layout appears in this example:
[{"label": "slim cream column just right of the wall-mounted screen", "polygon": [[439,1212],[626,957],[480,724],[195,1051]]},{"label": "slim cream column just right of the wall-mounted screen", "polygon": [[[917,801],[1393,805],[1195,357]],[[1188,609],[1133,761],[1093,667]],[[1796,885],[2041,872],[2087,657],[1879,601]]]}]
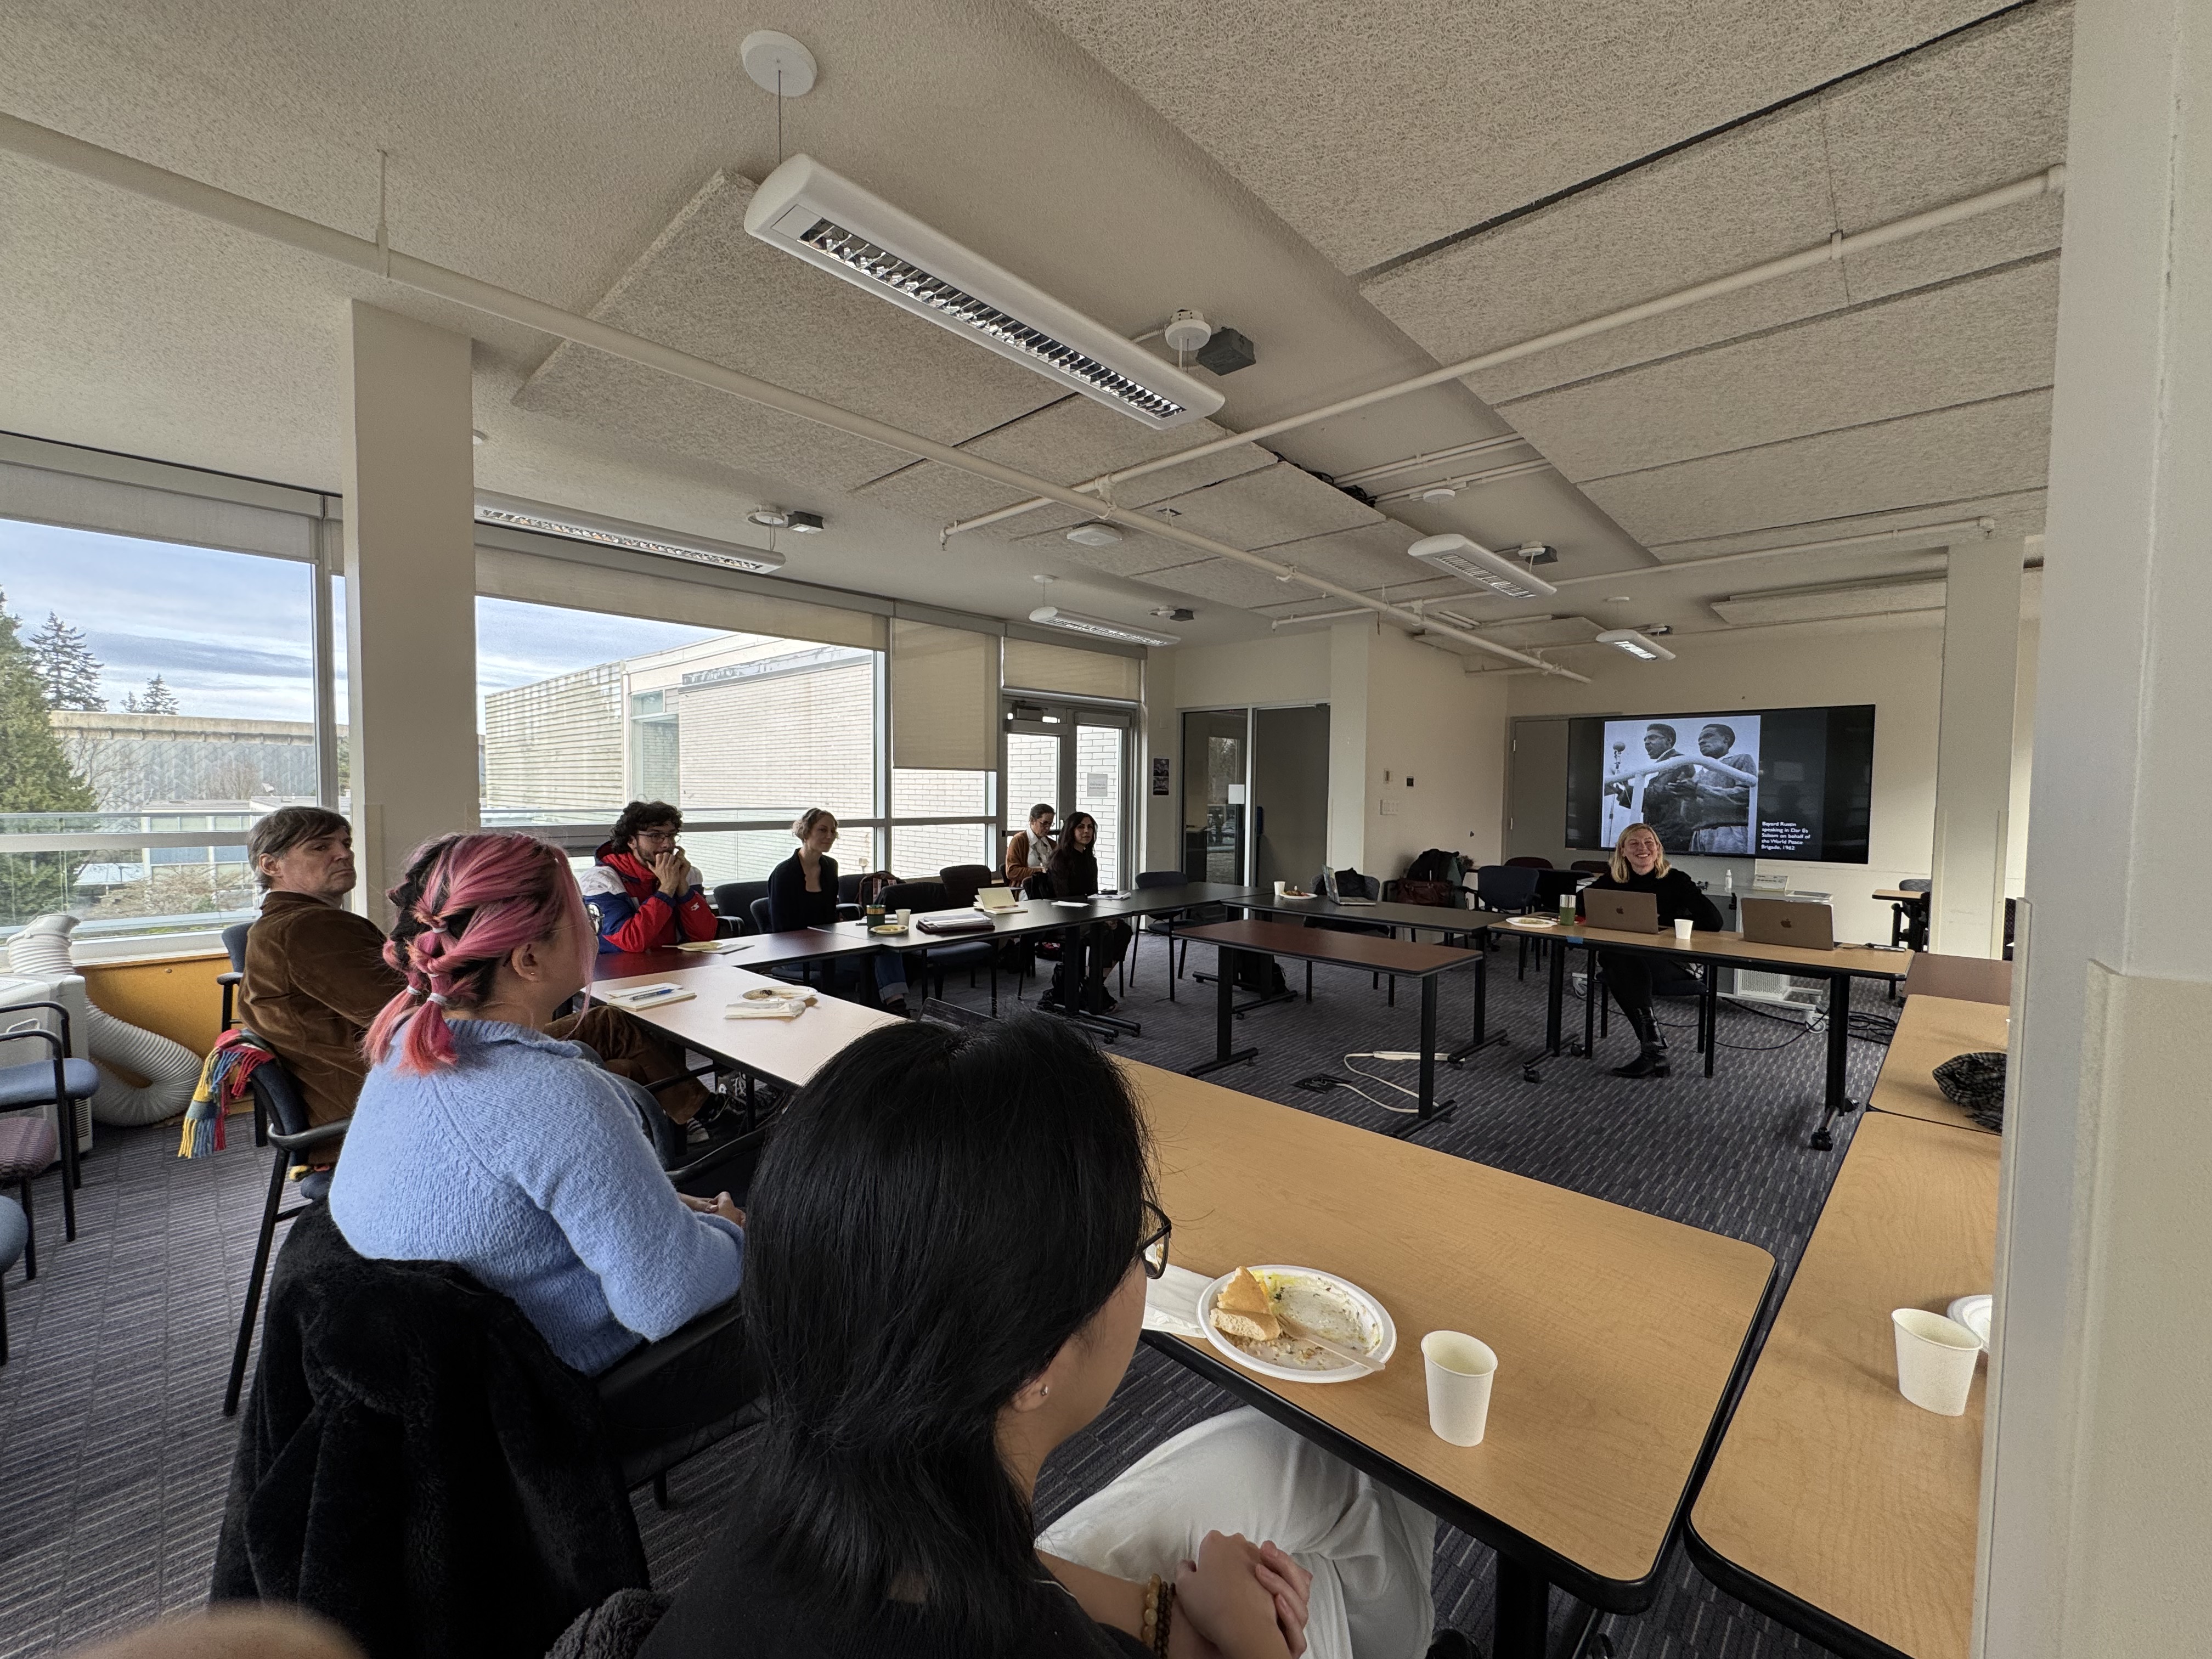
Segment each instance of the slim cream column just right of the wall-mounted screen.
[{"label": "slim cream column just right of the wall-mounted screen", "polygon": [[2004,847],[2013,812],[2013,695],[2022,542],[1951,549],[1936,721],[1936,883],[1929,947],[2004,953]]}]

